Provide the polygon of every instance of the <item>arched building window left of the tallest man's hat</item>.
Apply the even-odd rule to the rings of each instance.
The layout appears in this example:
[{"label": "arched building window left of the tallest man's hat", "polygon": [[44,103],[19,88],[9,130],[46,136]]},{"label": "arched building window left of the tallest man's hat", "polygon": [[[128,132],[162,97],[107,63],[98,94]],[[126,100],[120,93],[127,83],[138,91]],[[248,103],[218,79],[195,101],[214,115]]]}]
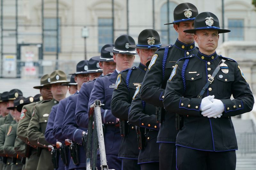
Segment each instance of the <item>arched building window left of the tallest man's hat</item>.
[{"label": "arched building window left of the tallest man's hat", "polygon": [[[168,26],[164,25],[166,23],[171,23],[173,19],[173,10],[177,6],[174,2],[169,2],[169,21],[167,20],[167,3],[165,3],[161,7],[161,43],[168,44]],[[170,34],[169,34],[169,42],[170,44],[175,43],[178,37],[178,33],[173,28],[173,25],[170,25]]]}]

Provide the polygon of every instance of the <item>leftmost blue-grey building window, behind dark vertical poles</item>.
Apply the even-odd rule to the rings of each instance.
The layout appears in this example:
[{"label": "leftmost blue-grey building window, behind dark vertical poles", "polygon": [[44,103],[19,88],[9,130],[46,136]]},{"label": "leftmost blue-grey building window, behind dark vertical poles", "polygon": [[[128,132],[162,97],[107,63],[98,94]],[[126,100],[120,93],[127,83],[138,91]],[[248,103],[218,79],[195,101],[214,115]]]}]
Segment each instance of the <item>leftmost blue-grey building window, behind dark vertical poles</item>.
[{"label": "leftmost blue-grey building window, behind dark vertical poles", "polygon": [[[58,41],[60,52],[60,18],[58,18]],[[57,23],[56,18],[44,18],[44,52],[57,52]]]}]

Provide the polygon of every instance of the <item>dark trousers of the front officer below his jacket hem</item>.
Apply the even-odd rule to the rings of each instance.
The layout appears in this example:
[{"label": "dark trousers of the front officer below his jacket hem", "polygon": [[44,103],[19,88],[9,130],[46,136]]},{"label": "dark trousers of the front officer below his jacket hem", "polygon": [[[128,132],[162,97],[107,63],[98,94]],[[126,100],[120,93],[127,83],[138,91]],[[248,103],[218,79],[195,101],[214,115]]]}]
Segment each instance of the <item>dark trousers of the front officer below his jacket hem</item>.
[{"label": "dark trousers of the front officer below his jacket hem", "polygon": [[177,146],[178,170],[235,170],[236,151],[211,152]]}]

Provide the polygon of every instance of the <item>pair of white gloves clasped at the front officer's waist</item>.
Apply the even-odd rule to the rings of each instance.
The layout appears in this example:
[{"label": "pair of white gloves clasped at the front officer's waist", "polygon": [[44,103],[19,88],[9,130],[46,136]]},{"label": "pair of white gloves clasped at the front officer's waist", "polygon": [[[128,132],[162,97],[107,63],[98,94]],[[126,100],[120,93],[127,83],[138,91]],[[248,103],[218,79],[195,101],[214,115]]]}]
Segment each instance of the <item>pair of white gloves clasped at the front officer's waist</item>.
[{"label": "pair of white gloves clasped at the front officer's waist", "polygon": [[202,115],[210,117],[220,117],[224,111],[224,104],[219,99],[211,99],[212,103],[202,108]]}]

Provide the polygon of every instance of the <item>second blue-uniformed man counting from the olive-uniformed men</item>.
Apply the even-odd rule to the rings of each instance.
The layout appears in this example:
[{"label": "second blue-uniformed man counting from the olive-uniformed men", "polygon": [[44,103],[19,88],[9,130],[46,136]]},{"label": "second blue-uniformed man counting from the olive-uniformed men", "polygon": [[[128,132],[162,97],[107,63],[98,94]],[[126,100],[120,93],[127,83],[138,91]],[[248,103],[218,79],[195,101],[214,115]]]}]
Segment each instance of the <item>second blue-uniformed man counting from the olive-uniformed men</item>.
[{"label": "second blue-uniformed man counting from the olive-uniformed men", "polygon": [[[71,95],[68,97],[68,101],[65,108],[65,114],[61,115],[64,118],[62,121],[62,125],[60,126],[61,129],[60,127],[58,127],[60,129],[60,131],[58,132],[59,134],[61,132],[63,134],[63,137],[66,137],[66,139],[72,140],[72,143],[74,143],[75,145],[75,147],[72,147],[72,148],[74,148],[76,155],[78,155],[78,158],[72,157],[69,163],[68,169],[85,169],[86,168],[85,151],[84,151],[84,147],[81,146],[82,135],[86,129],[77,126],[75,121],[75,111],[76,111],[76,101],[77,101],[78,92],[80,91],[82,84],[87,82],[89,79],[88,72],[87,72],[88,69],[89,69],[88,61],[86,61],[86,65],[85,65],[85,61],[81,61],[77,64],[76,73],[73,73],[74,75],[76,75],[75,81],[77,82],[77,92],[74,95]],[[56,119],[58,119],[58,117],[56,117]]]}]

